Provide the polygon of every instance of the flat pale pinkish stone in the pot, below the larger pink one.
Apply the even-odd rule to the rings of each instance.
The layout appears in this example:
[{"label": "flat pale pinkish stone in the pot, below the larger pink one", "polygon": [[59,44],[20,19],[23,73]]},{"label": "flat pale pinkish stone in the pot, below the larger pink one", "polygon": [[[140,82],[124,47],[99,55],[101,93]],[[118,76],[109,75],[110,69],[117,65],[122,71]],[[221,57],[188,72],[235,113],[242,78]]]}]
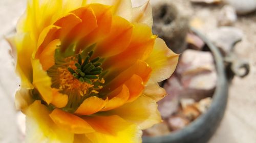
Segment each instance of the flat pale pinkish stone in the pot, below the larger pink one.
[{"label": "flat pale pinkish stone in the pot, below the larger pink one", "polygon": [[184,76],[181,82],[185,88],[209,91],[216,87],[217,73],[212,71],[210,73],[201,73],[193,76]]}]

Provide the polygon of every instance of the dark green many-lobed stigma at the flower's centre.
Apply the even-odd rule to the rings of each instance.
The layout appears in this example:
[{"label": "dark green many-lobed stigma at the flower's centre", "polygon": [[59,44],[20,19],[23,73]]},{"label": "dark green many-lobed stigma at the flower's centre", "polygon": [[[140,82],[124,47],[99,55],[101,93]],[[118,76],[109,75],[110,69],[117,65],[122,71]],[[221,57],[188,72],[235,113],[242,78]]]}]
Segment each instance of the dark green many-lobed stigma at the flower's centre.
[{"label": "dark green many-lobed stigma at the flower's centre", "polygon": [[75,63],[76,69],[68,67],[69,72],[80,82],[87,82],[92,84],[91,79],[98,79],[99,74],[102,73],[100,58],[91,59],[93,51],[89,52],[86,58],[82,59],[81,54],[77,55],[77,63]]}]

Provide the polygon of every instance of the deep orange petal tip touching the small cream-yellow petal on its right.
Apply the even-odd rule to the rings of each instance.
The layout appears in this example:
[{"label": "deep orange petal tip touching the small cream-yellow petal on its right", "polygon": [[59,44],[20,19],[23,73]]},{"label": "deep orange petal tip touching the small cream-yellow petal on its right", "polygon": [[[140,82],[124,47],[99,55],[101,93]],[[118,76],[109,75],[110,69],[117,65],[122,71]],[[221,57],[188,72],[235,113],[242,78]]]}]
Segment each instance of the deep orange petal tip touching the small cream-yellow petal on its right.
[{"label": "deep orange petal tip touching the small cream-yellow petal on its right", "polygon": [[129,89],[130,97],[127,102],[136,100],[144,90],[143,80],[140,76],[134,74],[129,80],[125,82]]}]

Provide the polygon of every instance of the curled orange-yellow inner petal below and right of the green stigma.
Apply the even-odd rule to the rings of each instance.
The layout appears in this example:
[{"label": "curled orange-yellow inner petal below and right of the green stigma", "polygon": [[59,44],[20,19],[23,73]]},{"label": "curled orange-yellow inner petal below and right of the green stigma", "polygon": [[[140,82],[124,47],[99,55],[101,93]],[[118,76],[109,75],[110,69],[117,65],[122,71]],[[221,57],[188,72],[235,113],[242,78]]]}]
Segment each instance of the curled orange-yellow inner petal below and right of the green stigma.
[{"label": "curled orange-yellow inner petal below and right of the green stigma", "polygon": [[107,95],[111,99],[106,103],[105,108],[101,109],[101,111],[111,110],[122,106],[129,99],[129,95],[129,89],[123,84],[121,87]]}]

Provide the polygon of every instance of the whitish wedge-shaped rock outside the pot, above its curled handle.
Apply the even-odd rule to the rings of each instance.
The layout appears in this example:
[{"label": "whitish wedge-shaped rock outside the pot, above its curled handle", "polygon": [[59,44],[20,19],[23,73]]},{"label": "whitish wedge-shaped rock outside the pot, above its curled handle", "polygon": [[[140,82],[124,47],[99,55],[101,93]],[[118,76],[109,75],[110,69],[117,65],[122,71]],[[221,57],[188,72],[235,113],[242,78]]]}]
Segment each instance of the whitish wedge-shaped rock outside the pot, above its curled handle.
[{"label": "whitish wedge-shaped rock outside the pot, above its curled handle", "polygon": [[233,45],[242,40],[243,32],[235,27],[223,26],[209,32],[206,36],[221,49],[224,55],[227,55]]}]

